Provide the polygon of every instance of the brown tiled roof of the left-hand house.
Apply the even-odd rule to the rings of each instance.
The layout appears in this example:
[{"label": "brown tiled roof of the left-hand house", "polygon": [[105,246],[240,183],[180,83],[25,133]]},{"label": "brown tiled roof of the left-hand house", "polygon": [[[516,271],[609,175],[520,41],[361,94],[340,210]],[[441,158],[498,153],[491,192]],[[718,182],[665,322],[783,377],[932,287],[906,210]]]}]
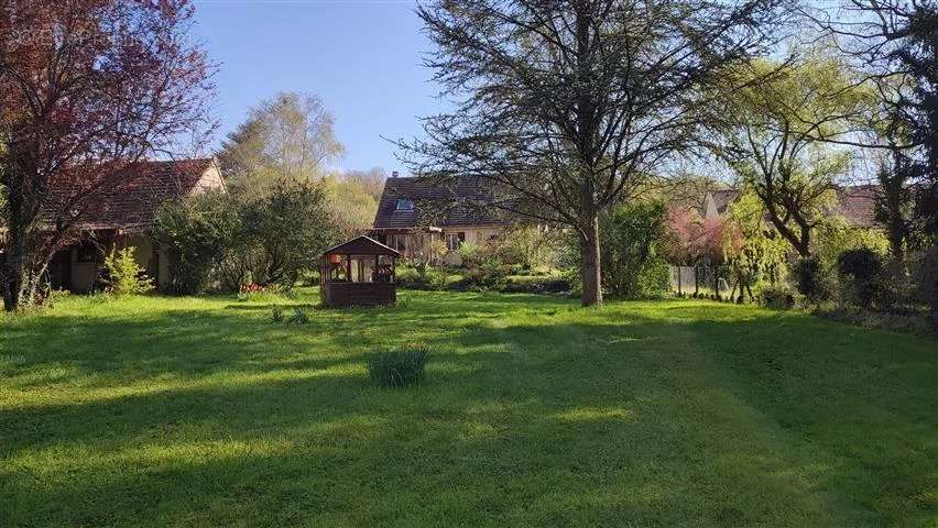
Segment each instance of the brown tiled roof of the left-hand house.
[{"label": "brown tiled roof of the left-hand house", "polygon": [[[210,158],[130,164],[113,178],[120,184],[96,194],[94,200],[74,210],[78,213],[76,224],[86,230],[150,227],[160,206],[168,199],[189,195],[211,164]],[[68,190],[57,197],[54,194],[53,204],[63,204],[69,194]],[[46,219],[54,223],[57,208],[52,209],[46,212]],[[63,213],[65,211],[58,211]]]}]

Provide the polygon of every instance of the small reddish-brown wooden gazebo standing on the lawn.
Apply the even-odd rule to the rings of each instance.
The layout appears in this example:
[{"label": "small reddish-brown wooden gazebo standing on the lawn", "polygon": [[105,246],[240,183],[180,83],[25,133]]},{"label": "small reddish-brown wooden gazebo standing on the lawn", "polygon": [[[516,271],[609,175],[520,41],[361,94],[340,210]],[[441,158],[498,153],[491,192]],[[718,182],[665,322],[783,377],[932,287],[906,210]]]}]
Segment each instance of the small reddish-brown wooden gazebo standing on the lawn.
[{"label": "small reddish-brown wooden gazebo standing on the lawn", "polygon": [[369,237],[339,244],[320,257],[323,306],[381,306],[397,300],[394,262],[401,252]]}]

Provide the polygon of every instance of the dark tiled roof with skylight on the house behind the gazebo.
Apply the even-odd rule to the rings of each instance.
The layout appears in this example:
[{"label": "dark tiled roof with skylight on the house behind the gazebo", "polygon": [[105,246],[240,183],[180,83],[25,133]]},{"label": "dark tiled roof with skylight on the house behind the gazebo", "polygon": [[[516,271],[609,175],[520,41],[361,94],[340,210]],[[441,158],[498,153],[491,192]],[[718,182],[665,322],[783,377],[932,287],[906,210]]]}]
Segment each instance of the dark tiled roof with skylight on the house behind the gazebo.
[{"label": "dark tiled roof with skylight on the house behind the gazebo", "polygon": [[[472,177],[460,177],[441,185],[418,178],[389,178],[378,204],[374,229],[504,223],[478,207],[490,198],[482,183]],[[414,207],[399,209],[397,200],[410,200]]]}]

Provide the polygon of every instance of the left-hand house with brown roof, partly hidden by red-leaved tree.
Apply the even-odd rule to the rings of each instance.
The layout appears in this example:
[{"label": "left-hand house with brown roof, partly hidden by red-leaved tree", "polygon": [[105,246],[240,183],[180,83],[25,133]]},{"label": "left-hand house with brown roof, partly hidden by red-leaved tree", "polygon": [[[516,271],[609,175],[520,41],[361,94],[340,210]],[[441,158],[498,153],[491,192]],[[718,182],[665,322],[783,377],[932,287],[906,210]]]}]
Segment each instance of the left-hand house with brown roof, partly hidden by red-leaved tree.
[{"label": "left-hand house with brown roof, partly hidden by red-leaved tree", "polygon": [[138,264],[157,288],[170,283],[166,251],[152,240],[160,206],[208,189],[223,189],[215,160],[140,162],[126,170],[122,184],[96,198],[94,208],[81,213],[77,227],[83,242],[58,252],[48,267],[53,288],[89,293],[100,279],[103,255],[110,248],[134,248]]}]

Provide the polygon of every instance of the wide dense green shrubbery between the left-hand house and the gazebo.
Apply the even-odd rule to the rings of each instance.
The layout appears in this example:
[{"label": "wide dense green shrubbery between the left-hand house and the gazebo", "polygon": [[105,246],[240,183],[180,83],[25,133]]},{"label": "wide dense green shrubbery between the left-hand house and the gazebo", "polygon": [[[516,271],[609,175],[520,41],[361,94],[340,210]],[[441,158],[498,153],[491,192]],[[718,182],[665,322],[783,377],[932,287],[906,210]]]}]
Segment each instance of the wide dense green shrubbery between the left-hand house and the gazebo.
[{"label": "wide dense green shrubbery between the left-hand house and the gazebo", "polygon": [[325,187],[282,180],[263,193],[204,193],[161,207],[154,238],[170,249],[175,294],[198,294],[215,284],[284,289],[314,271],[336,242]]}]

